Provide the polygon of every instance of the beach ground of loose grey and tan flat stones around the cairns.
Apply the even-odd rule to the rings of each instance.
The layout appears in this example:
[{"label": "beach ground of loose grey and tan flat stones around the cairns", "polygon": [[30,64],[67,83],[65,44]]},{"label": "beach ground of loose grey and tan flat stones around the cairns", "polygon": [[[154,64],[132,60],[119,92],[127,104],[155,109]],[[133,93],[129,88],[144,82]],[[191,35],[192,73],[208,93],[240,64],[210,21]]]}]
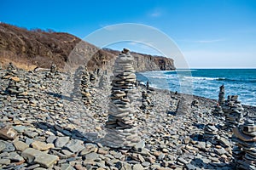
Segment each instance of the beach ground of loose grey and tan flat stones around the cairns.
[{"label": "beach ground of loose grey and tan flat stones around the cairns", "polygon": [[[137,100],[134,112],[139,143],[119,149],[102,144],[111,94],[103,76],[86,83],[84,105],[73,90],[77,75],[0,70],[0,168],[235,168],[232,132],[224,128],[224,115],[212,114],[217,101],[167,90],[137,87],[140,96],[148,94]],[[243,107],[245,116],[255,120],[256,108]]]}]

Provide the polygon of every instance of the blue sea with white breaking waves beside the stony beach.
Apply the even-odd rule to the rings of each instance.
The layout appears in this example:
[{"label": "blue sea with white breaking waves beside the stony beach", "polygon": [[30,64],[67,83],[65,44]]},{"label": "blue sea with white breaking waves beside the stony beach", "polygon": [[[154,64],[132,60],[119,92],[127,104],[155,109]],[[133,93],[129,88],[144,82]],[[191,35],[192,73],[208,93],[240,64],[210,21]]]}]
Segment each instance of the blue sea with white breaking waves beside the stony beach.
[{"label": "blue sea with white breaking waves beside the stony beach", "polygon": [[218,99],[219,87],[224,84],[225,98],[238,95],[243,105],[256,106],[256,69],[189,69],[176,71],[146,71],[137,79],[152,88],[168,89]]}]

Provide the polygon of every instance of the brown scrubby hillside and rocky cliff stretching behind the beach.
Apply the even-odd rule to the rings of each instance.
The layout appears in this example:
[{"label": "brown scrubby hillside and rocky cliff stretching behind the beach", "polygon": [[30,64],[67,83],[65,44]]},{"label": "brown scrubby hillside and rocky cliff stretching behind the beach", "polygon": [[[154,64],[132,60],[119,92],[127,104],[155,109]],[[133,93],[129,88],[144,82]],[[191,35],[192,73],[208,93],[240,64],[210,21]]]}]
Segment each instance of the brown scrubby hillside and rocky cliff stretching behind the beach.
[{"label": "brown scrubby hillside and rocky cliff stretching behind the beach", "polygon": [[[67,64],[81,65],[79,58],[82,56],[87,59],[90,70],[108,70],[118,54],[118,51],[98,49],[88,42],[81,42],[79,37],[68,33],[40,29],[28,31],[0,23],[2,65],[13,62],[18,67],[32,70],[36,66],[49,68],[55,63],[59,68],[64,68]],[[175,69],[172,59],[148,54],[132,53],[132,55],[135,57],[136,71]]]}]

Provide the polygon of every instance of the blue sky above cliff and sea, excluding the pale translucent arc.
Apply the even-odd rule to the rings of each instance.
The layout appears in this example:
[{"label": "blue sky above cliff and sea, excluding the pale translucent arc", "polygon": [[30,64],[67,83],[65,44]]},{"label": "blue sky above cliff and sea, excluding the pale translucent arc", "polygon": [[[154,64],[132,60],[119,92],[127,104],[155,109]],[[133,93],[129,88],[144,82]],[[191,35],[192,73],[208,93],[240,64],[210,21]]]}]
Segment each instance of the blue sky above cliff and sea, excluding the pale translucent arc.
[{"label": "blue sky above cliff and sea, excluding the pale translucent arc", "polygon": [[[65,31],[80,38],[114,24],[153,26],[176,42],[191,68],[256,68],[255,0],[2,0],[0,7],[2,22]],[[123,46],[159,54],[131,42],[109,48]]]}]

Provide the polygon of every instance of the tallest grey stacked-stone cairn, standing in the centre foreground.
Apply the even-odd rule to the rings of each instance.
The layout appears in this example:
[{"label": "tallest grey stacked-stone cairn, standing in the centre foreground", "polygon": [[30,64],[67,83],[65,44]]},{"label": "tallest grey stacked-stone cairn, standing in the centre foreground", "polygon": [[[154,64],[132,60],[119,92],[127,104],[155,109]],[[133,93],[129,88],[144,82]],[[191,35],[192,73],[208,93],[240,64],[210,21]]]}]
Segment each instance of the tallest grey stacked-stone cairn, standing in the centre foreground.
[{"label": "tallest grey stacked-stone cairn, standing in the centre foreground", "polygon": [[108,110],[108,122],[103,143],[113,148],[129,149],[135,146],[140,137],[137,135],[134,105],[137,93],[133,57],[124,48],[115,60],[112,94]]}]

